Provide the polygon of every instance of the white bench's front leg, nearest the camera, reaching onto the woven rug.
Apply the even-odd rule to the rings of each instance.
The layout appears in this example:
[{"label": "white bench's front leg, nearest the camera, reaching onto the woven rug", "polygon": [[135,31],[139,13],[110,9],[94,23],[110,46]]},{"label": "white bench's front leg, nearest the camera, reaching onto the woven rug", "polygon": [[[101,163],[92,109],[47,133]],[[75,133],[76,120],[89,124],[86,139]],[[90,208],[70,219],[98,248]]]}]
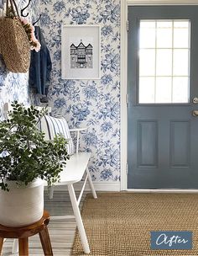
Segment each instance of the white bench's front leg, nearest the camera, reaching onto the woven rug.
[{"label": "white bench's front leg, nearest the camera, reaching onto the woven rug", "polygon": [[85,253],[90,253],[90,248],[89,248],[89,243],[87,242],[87,238],[86,238],[86,232],[85,232],[85,228],[83,226],[83,222],[81,219],[81,212],[79,210],[78,207],[78,202],[76,200],[76,194],[75,194],[75,190],[72,184],[68,185],[68,191],[70,194],[70,201],[71,201],[71,205],[74,211],[74,215],[76,217],[76,224],[79,230],[79,234],[81,237],[81,243],[82,243],[82,247],[84,249]]}]

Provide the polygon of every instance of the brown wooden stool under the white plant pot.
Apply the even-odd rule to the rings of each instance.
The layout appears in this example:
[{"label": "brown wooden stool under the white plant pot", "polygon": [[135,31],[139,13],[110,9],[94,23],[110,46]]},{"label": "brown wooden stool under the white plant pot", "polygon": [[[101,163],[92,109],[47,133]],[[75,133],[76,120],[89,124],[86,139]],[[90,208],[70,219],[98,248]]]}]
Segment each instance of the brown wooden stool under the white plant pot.
[{"label": "brown wooden stool under the white plant pot", "polygon": [[0,225],[0,254],[3,248],[4,238],[18,238],[19,255],[29,255],[29,237],[39,233],[40,242],[42,244],[44,255],[52,256],[52,248],[47,225],[50,221],[50,215],[44,211],[42,218],[29,226],[25,227],[5,227]]}]

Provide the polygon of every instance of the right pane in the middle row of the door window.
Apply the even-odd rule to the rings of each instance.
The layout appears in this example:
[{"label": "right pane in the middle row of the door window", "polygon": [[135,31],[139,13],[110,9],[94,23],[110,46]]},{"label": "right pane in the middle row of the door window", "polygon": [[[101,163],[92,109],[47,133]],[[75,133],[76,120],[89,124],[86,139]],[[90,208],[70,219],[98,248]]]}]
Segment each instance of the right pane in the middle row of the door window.
[{"label": "right pane in the middle row of the door window", "polygon": [[174,50],[174,76],[189,76],[189,50]]}]

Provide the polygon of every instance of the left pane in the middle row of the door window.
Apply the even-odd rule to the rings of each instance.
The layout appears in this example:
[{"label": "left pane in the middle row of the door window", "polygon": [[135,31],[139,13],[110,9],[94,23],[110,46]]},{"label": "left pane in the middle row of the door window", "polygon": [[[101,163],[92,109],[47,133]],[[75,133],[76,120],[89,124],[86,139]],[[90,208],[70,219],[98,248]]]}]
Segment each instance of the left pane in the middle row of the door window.
[{"label": "left pane in the middle row of the door window", "polygon": [[155,74],[155,51],[140,50],[139,53],[139,75],[154,76]]}]

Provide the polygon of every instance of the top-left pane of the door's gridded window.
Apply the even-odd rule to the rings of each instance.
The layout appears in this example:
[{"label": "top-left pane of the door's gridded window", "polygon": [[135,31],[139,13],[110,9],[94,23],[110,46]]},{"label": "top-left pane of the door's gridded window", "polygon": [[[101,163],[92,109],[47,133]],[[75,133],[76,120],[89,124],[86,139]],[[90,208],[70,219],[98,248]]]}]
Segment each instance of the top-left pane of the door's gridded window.
[{"label": "top-left pane of the door's gridded window", "polygon": [[140,23],[140,48],[155,48],[155,22],[142,21]]}]

